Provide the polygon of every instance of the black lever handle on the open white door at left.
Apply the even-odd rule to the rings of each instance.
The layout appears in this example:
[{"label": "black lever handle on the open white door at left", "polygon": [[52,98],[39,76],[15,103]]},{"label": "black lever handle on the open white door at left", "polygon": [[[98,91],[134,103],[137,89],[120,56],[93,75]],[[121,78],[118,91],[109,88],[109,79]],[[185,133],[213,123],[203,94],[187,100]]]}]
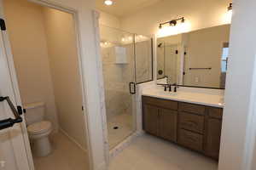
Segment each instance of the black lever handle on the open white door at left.
[{"label": "black lever handle on the open white door at left", "polygon": [[0,102],[3,102],[4,100],[7,101],[11,111],[13,112],[13,114],[15,115],[15,119],[13,118],[8,118],[8,119],[3,119],[0,121],[0,130],[4,129],[4,128],[9,128],[9,127],[13,127],[15,125],[15,123],[19,123],[22,122],[22,117],[20,115],[22,115],[22,108],[20,105],[17,106],[17,110],[15,109],[15,105],[12,103],[12,101],[9,99],[9,96],[7,97],[0,97]]}]

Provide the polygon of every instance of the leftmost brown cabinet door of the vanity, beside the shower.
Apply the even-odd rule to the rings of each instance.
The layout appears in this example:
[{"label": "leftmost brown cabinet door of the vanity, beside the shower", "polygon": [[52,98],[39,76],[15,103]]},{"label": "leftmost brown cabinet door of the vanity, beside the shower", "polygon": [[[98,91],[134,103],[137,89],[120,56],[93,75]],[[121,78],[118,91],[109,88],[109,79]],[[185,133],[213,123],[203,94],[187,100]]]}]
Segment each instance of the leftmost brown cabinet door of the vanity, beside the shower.
[{"label": "leftmost brown cabinet door of the vanity, beside the shower", "polygon": [[143,105],[143,129],[147,133],[158,135],[158,108],[153,105]]}]

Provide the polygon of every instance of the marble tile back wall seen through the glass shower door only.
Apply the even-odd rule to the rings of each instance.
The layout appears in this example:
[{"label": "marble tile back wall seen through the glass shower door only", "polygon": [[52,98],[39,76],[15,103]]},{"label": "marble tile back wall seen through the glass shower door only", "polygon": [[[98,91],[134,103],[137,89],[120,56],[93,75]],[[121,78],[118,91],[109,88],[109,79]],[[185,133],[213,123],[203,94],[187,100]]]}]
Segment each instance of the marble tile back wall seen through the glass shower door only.
[{"label": "marble tile back wall seen through the glass shower door only", "polygon": [[133,49],[126,46],[127,64],[115,63],[114,47],[102,48],[103,76],[106,96],[108,120],[119,114],[131,115],[131,97],[129,82],[132,81],[131,72]]}]

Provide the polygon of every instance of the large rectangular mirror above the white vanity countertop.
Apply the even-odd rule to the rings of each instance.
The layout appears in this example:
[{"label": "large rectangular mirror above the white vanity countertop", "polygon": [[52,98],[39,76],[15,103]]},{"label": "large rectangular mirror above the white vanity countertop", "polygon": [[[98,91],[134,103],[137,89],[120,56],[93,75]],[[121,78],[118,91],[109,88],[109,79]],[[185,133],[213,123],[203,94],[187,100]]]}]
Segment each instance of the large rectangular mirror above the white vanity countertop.
[{"label": "large rectangular mirror above the white vanity countertop", "polygon": [[230,25],[157,39],[157,78],[167,83],[224,88]]}]

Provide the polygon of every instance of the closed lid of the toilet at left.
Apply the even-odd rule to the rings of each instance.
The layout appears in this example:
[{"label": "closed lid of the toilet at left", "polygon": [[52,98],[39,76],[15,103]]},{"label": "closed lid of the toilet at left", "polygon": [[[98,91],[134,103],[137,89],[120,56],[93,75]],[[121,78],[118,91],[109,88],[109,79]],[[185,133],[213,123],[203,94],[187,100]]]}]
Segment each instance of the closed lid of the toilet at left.
[{"label": "closed lid of the toilet at left", "polygon": [[27,127],[29,133],[45,133],[49,129],[51,129],[51,122],[48,121],[36,122]]}]

